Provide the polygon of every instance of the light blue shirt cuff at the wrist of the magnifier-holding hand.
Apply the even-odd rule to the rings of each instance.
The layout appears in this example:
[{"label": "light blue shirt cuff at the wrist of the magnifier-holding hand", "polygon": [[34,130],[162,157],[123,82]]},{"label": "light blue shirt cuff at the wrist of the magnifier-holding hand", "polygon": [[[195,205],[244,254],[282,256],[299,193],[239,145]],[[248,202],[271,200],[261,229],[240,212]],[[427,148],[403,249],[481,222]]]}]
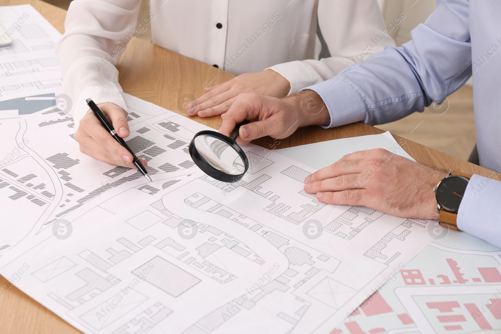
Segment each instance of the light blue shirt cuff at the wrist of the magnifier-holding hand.
[{"label": "light blue shirt cuff at the wrist of the magnifier-holding hand", "polygon": [[317,92],[329,110],[331,123],[322,125],[323,128],[354,123],[365,118],[365,104],[360,94],[341,78],[334,77],[305,89]]}]

